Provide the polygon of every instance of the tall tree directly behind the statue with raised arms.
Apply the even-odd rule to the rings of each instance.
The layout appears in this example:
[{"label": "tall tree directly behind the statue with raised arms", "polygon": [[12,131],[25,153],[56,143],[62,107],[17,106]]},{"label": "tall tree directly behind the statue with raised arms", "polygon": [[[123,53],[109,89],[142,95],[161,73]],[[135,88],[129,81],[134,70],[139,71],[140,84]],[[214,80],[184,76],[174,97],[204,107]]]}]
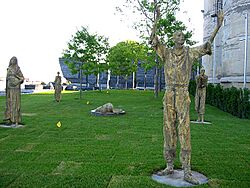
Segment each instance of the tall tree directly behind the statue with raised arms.
[{"label": "tall tree directly behind the statue with raised arms", "polygon": [[[117,11],[123,15],[133,14],[133,17],[136,17],[133,27],[139,31],[139,36],[145,43],[148,43],[153,25],[156,23],[157,35],[167,47],[174,46],[172,36],[178,30],[184,32],[187,44],[193,45],[194,42],[190,40],[192,32],[187,31],[183,22],[176,19],[175,14],[179,10],[179,5],[180,0],[126,0],[122,7],[117,7]],[[156,71],[156,80],[158,77]],[[156,97],[158,89],[158,86],[155,86]]]}]

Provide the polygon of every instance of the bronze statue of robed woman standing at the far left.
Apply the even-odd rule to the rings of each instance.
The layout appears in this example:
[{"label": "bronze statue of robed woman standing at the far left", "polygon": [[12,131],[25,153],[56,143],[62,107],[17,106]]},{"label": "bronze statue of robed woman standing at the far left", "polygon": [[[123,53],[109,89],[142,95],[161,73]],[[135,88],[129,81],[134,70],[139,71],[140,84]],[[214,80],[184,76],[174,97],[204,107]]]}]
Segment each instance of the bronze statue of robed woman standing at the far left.
[{"label": "bronze statue of robed woman standing at the far left", "polygon": [[17,58],[10,59],[6,77],[6,111],[5,120],[8,124],[18,125],[21,122],[21,84],[23,74],[17,64]]}]

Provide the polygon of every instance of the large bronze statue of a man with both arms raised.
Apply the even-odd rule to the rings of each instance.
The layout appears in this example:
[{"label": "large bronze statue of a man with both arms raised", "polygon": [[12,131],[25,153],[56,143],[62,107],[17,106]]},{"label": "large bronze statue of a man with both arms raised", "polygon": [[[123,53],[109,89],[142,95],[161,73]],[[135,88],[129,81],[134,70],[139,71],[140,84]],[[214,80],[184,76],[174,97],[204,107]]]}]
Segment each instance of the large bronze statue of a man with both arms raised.
[{"label": "large bronze statue of a man with both arms raised", "polygon": [[224,16],[223,12],[218,14],[218,22],[214,32],[209,40],[201,46],[193,48],[184,46],[184,34],[181,31],[177,31],[173,35],[174,47],[166,48],[157,37],[157,22],[160,19],[159,7],[157,7],[156,12],[150,43],[164,63],[166,83],[166,92],[163,99],[164,157],[166,168],[159,172],[158,175],[174,173],[178,136],[181,146],[180,160],[184,170],[184,180],[192,184],[199,184],[199,181],[191,173],[190,98],[188,85],[194,60],[206,54],[211,55],[211,43],[222,25]]}]

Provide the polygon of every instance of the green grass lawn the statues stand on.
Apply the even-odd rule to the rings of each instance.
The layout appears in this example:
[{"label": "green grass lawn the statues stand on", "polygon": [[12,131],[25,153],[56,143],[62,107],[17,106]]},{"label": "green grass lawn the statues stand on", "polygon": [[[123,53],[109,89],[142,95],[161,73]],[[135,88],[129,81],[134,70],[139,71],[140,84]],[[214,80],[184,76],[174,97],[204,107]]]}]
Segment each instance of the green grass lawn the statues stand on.
[{"label": "green grass lawn the statues stand on", "polygon": [[[151,180],[165,166],[162,96],[88,91],[82,100],[77,92],[63,93],[56,103],[53,93],[23,95],[25,127],[0,128],[0,187],[168,187]],[[107,102],[126,114],[90,114]],[[2,118],[4,109],[0,97]],[[196,119],[193,103],[190,115]],[[205,119],[212,125],[191,124],[192,169],[209,178],[198,187],[250,187],[250,120],[211,106]]]}]

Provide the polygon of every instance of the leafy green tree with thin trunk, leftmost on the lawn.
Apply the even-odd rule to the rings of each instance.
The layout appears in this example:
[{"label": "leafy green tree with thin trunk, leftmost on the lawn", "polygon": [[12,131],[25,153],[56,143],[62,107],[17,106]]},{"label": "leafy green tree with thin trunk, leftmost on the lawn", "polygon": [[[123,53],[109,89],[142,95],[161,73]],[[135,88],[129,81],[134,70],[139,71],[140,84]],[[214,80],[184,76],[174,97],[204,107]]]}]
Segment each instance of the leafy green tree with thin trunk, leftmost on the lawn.
[{"label": "leafy green tree with thin trunk, leftmost on the lawn", "polygon": [[[106,63],[106,54],[109,50],[108,39],[97,34],[90,34],[88,29],[82,27],[68,42],[68,47],[63,51],[65,63],[72,73],[79,72],[86,75],[88,85],[88,75],[103,71],[102,63]],[[80,76],[80,85],[82,78]],[[81,86],[82,88],[82,86]],[[80,98],[82,96],[80,89]]]}]

